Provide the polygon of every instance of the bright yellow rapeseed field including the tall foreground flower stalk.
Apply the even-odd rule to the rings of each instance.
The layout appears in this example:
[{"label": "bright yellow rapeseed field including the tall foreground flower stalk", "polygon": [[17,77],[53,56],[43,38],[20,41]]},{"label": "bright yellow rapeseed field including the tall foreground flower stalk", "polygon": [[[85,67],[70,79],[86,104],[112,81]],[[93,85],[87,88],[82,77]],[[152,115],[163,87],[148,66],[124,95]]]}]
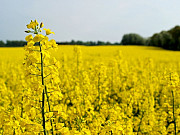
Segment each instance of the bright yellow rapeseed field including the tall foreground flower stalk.
[{"label": "bright yellow rapeseed field including the tall foreground flower stalk", "polygon": [[26,40],[0,48],[0,134],[180,134],[180,52]]}]

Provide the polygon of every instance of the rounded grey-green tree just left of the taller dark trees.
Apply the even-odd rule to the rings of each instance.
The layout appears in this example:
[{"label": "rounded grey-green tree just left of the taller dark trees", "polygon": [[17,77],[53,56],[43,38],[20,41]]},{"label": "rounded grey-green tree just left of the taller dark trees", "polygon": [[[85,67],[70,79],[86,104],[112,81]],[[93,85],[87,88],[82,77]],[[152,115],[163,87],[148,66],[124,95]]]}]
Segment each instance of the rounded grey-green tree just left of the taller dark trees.
[{"label": "rounded grey-green tree just left of the taller dark trees", "polygon": [[121,43],[123,45],[145,45],[145,39],[138,34],[130,33],[123,35]]}]

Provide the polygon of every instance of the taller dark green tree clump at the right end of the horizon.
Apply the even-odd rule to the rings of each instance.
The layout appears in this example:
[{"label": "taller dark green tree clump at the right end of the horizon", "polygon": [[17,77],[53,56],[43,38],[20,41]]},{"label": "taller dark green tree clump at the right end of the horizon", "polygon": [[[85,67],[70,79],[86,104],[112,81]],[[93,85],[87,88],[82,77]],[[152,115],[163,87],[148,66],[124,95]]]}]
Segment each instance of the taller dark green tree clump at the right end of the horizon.
[{"label": "taller dark green tree clump at the right end of the horizon", "polygon": [[180,26],[175,26],[168,31],[155,33],[149,38],[143,38],[135,33],[125,34],[121,44],[156,46],[168,50],[180,50]]}]

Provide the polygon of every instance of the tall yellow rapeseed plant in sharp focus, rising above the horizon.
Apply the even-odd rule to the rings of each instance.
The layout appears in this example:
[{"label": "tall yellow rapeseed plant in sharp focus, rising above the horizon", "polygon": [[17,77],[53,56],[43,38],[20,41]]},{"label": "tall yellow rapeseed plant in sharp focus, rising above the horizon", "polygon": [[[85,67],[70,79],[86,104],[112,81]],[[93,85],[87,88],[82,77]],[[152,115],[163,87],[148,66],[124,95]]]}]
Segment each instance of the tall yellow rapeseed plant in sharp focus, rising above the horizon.
[{"label": "tall yellow rapeseed plant in sharp focus, rising above the horizon", "polygon": [[[27,28],[32,29],[28,33],[35,35],[26,36],[27,45],[25,46],[25,73],[26,79],[29,82],[29,88],[25,91],[27,93],[24,100],[31,100],[24,104],[25,108],[31,110],[33,113],[41,118],[42,131],[44,134],[56,131],[53,125],[54,112],[53,105],[62,99],[62,94],[59,86],[59,62],[51,57],[50,51],[57,48],[55,40],[49,40],[47,35],[54,34],[49,29],[44,29],[46,35],[39,34],[43,23],[40,24],[35,20],[27,25]],[[39,102],[39,103],[38,103]],[[52,106],[52,107],[51,107]],[[37,109],[37,110],[36,110]],[[40,110],[40,112],[39,112]],[[41,114],[38,116],[38,114]],[[37,119],[34,118],[34,119]]]}]

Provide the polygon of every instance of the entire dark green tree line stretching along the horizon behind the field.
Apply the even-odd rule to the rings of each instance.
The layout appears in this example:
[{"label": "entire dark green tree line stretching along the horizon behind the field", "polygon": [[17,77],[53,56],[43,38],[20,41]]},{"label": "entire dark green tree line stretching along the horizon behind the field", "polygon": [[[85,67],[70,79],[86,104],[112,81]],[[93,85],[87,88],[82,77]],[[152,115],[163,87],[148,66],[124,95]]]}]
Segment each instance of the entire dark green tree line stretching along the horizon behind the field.
[{"label": "entire dark green tree line stretching along the horizon behind the field", "polygon": [[[22,47],[26,45],[26,41],[7,40],[0,41],[0,47]],[[180,50],[180,26],[175,26],[168,31],[161,31],[153,34],[149,38],[144,38],[136,33],[124,34],[119,42],[104,42],[104,41],[80,41],[71,40],[57,42],[58,45],[85,45],[85,46],[100,46],[100,45],[146,45],[162,47],[169,50]]]}]

